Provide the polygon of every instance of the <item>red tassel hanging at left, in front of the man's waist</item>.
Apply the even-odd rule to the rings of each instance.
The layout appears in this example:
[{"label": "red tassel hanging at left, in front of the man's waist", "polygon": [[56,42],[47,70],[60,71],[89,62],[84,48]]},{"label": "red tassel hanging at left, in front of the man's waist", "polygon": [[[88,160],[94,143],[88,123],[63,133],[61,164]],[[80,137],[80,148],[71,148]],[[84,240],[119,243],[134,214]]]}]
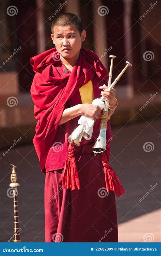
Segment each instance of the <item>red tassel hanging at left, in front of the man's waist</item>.
[{"label": "red tassel hanging at left, in front of the man's waist", "polygon": [[75,148],[73,146],[73,142],[69,142],[68,152],[69,155],[66,159],[63,170],[62,187],[71,188],[72,190],[81,189],[74,157]]}]

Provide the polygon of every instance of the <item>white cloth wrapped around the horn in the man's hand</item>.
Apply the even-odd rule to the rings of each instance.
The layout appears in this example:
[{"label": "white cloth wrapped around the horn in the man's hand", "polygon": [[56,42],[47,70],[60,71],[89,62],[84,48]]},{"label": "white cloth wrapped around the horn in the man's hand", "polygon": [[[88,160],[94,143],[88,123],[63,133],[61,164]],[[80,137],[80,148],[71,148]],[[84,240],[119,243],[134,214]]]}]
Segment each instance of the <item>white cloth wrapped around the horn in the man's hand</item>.
[{"label": "white cloth wrapped around the horn in the man's hand", "polygon": [[[101,108],[101,110],[104,108],[104,102],[100,99],[94,99],[92,101],[92,104],[93,105],[97,105]],[[84,115],[81,116],[81,118],[78,120],[78,124],[82,124],[85,128],[85,132],[84,132],[84,135],[83,137],[86,139],[86,140],[89,140],[91,139],[92,137],[92,133],[93,133],[93,125],[94,125],[94,120],[92,118],[89,118],[89,117],[85,117]]]}]

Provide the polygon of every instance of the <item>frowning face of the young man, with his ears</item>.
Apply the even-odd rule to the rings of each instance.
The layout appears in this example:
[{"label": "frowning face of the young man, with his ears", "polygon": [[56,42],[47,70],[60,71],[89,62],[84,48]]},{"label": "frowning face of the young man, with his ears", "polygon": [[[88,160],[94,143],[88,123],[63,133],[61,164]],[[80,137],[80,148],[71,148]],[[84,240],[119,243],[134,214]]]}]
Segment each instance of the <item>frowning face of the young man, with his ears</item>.
[{"label": "frowning face of the young man, with his ears", "polygon": [[[54,35],[51,38],[55,44],[56,50],[64,58],[74,58],[79,55],[82,47],[82,42],[85,40],[86,31],[82,34],[76,29],[75,25],[68,25],[66,27],[54,26]],[[67,50],[65,50],[67,48]]]}]

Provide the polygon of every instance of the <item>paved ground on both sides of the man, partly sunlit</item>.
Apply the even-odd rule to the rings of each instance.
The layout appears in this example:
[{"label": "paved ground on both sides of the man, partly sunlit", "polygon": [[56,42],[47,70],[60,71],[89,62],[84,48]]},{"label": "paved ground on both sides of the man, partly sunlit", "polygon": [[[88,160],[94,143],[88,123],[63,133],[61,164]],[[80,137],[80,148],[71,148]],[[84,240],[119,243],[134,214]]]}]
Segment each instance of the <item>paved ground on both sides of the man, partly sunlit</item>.
[{"label": "paved ground on both sides of the man, partly sunlit", "polygon": [[[119,241],[142,242],[160,239],[160,143],[161,119],[112,129],[110,165],[119,175],[126,193],[117,200]],[[151,144],[147,147],[145,143]],[[146,152],[148,151],[148,152]],[[23,242],[44,241],[44,177],[33,145],[16,146],[1,158],[0,241],[13,236],[13,199],[6,194],[11,167],[18,167],[19,220]],[[150,190],[151,189],[151,190]],[[143,198],[144,197],[144,198]]]}]

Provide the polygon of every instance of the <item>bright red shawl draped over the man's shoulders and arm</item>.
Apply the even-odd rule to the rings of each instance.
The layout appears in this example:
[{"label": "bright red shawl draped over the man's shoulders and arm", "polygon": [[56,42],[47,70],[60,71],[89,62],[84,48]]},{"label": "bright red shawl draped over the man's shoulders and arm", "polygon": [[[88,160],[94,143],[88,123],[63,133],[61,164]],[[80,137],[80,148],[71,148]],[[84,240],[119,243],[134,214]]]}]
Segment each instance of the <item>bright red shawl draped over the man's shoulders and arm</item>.
[{"label": "bright red shawl draped over the man's shoulders and arm", "polygon": [[[38,120],[33,143],[43,172],[45,172],[47,155],[57,132],[66,102],[81,86],[89,82],[94,74],[101,80],[108,80],[108,72],[99,61],[99,57],[93,51],[84,47],[81,48],[79,57],[70,74],[64,73],[63,76],[59,76],[55,67],[59,61],[60,54],[56,51],[56,48],[30,59],[36,73],[31,86],[31,95],[35,104],[34,117]],[[61,97],[61,95],[65,97]],[[105,174],[105,176],[107,175]],[[110,187],[114,190],[112,186],[113,184]],[[71,188],[79,189],[79,186],[74,185]]]}]

